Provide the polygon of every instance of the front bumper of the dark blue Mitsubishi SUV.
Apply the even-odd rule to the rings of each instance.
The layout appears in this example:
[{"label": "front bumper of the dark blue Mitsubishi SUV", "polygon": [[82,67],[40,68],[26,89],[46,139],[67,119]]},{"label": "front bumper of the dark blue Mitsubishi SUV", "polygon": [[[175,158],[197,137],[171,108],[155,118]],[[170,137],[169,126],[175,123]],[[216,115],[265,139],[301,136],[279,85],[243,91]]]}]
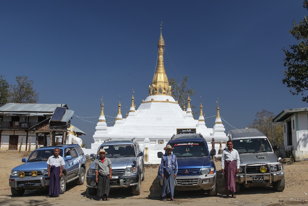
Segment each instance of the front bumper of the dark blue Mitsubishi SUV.
[{"label": "front bumper of the dark blue Mitsubishi SUV", "polygon": [[[160,186],[162,186],[163,179],[160,175],[158,177]],[[216,173],[210,175],[177,176],[174,186],[177,190],[209,190],[215,186],[216,181]]]}]

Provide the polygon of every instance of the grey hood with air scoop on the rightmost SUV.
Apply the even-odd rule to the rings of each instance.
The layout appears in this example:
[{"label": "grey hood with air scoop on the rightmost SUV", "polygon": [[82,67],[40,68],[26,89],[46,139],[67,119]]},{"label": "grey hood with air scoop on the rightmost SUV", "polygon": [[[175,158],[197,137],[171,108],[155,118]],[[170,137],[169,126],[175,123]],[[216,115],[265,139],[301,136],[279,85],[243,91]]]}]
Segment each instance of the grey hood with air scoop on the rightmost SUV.
[{"label": "grey hood with air scoop on the rightmost SUV", "polygon": [[240,165],[248,163],[277,163],[278,158],[273,152],[240,154]]}]

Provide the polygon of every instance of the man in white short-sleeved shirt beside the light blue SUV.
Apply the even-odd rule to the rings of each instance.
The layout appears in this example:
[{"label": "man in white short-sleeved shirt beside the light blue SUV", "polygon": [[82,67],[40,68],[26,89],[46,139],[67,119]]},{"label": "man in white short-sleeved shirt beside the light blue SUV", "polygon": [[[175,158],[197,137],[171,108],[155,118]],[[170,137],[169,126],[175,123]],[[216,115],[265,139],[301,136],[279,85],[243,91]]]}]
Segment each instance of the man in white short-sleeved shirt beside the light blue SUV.
[{"label": "man in white short-sleeved shirt beside the light blue SUV", "polygon": [[47,197],[59,197],[60,195],[60,177],[62,177],[63,165],[65,165],[63,157],[59,155],[59,148],[54,149],[54,155],[47,160],[47,171],[49,179],[49,195]]}]

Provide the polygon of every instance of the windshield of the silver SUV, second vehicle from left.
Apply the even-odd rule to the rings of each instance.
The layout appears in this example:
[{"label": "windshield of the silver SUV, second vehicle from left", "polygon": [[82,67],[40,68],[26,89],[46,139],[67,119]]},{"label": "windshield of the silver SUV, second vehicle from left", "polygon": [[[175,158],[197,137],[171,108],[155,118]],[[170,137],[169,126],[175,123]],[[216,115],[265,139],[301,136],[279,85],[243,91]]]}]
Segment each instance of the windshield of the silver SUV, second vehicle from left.
[{"label": "windshield of the silver SUV, second vehicle from left", "polygon": [[[105,157],[116,158],[116,157],[136,157],[136,152],[133,144],[129,145],[104,145],[99,148],[104,149],[107,154]],[[99,157],[99,155],[97,156]]]}]

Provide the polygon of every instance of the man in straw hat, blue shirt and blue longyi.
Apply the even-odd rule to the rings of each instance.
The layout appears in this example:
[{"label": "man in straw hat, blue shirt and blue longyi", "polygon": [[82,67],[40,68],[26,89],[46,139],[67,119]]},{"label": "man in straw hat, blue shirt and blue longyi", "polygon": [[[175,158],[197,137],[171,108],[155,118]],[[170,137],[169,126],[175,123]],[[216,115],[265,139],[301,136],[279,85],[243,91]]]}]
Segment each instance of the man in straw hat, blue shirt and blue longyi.
[{"label": "man in straw hat, blue shirt and blue longyi", "polygon": [[167,201],[167,194],[170,193],[170,200],[174,201],[174,178],[176,178],[177,174],[177,161],[176,155],[171,154],[172,147],[171,145],[167,145],[164,150],[166,150],[165,154],[161,157],[160,163],[160,175],[163,178],[163,187],[161,189],[161,196],[164,197],[163,201]]}]

